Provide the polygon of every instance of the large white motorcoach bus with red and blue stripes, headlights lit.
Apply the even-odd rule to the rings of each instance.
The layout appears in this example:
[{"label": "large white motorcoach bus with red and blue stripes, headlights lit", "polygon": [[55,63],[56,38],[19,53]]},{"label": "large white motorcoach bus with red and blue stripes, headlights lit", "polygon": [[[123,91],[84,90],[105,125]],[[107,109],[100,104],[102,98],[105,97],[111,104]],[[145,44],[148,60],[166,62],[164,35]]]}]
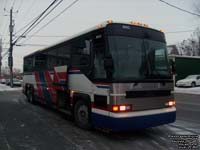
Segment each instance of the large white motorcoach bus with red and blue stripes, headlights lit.
[{"label": "large white motorcoach bus with red and blue stripes, headlights lit", "polygon": [[24,57],[23,92],[84,129],[142,129],[175,121],[164,33],[108,20]]}]

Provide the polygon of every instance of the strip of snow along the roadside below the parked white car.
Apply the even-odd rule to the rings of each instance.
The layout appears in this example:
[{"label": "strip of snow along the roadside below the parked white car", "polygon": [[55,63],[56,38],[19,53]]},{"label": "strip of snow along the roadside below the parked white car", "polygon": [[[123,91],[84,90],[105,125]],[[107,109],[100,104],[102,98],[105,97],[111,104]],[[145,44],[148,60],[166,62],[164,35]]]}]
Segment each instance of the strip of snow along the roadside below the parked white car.
[{"label": "strip of snow along the roadside below the parked white car", "polygon": [[193,88],[174,87],[174,93],[200,94],[200,87],[193,87]]}]

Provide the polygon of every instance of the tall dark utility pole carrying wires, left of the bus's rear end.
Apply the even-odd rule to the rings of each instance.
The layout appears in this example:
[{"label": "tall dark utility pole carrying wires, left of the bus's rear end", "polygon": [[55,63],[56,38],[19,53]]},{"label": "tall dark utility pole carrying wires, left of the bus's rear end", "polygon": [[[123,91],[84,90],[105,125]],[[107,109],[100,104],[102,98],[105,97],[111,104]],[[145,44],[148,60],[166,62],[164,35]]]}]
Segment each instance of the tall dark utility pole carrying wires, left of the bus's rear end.
[{"label": "tall dark utility pole carrying wires, left of the bus's rear end", "polygon": [[13,19],[12,19],[12,13],[13,8],[10,9],[10,25],[9,25],[9,31],[10,31],[10,48],[9,48],[9,57],[8,57],[8,66],[10,68],[10,87],[13,87]]}]

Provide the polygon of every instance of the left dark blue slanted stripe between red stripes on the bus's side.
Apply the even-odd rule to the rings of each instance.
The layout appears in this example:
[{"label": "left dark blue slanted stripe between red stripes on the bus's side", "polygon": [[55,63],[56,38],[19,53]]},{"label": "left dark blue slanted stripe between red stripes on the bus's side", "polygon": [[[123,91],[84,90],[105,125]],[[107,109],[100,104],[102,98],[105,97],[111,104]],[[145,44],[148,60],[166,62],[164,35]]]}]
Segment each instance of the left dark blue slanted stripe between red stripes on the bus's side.
[{"label": "left dark blue slanted stripe between red stripes on the bus's side", "polygon": [[46,89],[47,83],[45,80],[45,73],[44,72],[39,72],[39,78],[40,78],[40,82],[42,85],[42,92],[45,98],[45,101],[47,102],[48,105],[52,105],[53,104],[53,100],[52,100],[52,96],[51,93]]}]

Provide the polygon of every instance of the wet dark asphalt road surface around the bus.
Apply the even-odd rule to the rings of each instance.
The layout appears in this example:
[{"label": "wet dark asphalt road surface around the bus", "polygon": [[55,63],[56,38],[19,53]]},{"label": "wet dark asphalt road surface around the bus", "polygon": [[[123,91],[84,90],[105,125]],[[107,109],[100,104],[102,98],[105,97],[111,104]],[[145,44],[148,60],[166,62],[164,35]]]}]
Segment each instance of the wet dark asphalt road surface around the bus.
[{"label": "wet dark asphalt road surface around the bus", "polygon": [[79,129],[66,115],[28,103],[21,91],[0,92],[0,150],[178,149],[171,135],[200,135],[200,98],[176,94],[176,99],[173,124],[105,133]]}]

